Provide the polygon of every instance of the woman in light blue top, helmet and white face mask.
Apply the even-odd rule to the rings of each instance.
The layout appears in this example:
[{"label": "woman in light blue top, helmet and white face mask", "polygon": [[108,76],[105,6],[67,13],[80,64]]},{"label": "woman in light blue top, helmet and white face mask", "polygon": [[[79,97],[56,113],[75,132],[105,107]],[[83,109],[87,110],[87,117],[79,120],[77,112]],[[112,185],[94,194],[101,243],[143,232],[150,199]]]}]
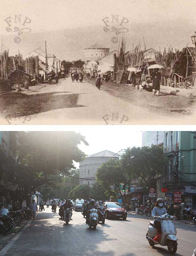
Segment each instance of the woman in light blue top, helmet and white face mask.
[{"label": "woman in light blue top, helmet and white face mask", "polygon": [[157,236],[155,236],[155,238],[153,240],[155,240],[157,242],[159,242],[160,237],[161,237],[160,234],[162,233],[160,219],[157,219],[157,217],[161,216],[163,214],[166,214],[166,213],[167,213],[167,211],[164,207],[164,200],[162,198],[158,198],[156,206],[152,210],[152,217],[154,218],[154,225],[157,228],[158,233],[159,233]]}]

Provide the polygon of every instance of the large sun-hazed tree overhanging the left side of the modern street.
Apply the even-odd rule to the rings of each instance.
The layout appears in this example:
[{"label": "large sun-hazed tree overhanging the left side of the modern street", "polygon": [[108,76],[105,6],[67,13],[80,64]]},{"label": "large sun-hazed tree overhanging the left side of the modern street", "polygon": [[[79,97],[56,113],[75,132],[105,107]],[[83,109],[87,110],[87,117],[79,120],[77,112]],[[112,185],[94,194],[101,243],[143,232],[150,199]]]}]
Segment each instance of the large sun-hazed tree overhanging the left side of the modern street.
[{"label": "large sun-hazed tree overhanging the left side of the modern street", "polygon": [[73,160],[79,162],[85,154],[78,145],[88,143],[76,132],[19,132],[18,176],[25,189],[54,184],[53,175],[69,174]]}]

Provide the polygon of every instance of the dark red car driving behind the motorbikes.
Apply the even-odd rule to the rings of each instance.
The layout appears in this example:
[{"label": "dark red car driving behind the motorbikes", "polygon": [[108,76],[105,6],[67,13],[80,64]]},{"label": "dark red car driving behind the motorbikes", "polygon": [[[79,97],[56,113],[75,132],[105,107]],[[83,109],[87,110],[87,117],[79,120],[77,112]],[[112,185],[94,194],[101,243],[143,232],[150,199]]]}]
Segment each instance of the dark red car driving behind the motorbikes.
[{"label": "dark red car driving behind the motorbikes", "polygon": [[104,202],[106,208],[105,218],[123,218],[126,220],[127,211],[118,202]]}]

